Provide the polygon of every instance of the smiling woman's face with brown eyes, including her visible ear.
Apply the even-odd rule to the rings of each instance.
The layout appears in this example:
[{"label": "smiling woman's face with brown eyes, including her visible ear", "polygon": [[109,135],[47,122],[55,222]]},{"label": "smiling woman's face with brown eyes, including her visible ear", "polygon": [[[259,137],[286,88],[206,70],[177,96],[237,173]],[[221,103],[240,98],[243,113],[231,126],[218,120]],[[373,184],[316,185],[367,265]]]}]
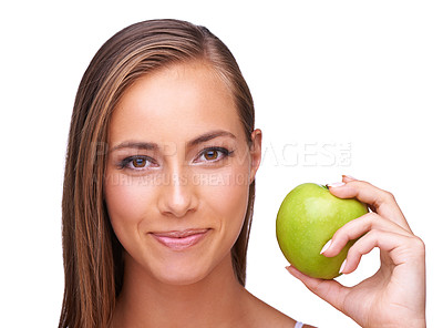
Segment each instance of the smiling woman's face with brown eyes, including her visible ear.
[{"label": "smiling woman's face with brown eyes, including her visible ear", "polygon": [[192,284],[229,259],[260,162],[228,88],[203,63],[150,73],[111,117],[105,199],[125,265]]}]

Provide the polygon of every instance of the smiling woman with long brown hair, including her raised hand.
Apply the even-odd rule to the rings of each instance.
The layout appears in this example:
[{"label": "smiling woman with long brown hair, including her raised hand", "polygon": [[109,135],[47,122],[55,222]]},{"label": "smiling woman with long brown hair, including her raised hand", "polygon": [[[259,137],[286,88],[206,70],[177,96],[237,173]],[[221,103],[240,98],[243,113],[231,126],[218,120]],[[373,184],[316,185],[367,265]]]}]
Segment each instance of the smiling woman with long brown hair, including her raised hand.
[{"label": "smiling woman with long brown hair, including her raised hand", "polygon": [[[260,148],[248,86],[207,29],[154,20],[111,38],[72,115],[60,327],[301,327],[244,288]],[[393,197],[350,177],[330,189],[373,213],[323,255],[367,233],[343,273],[373,247],[381,268],[352,288],[289,271],[364,327],[423,327],[424,246]]]}]

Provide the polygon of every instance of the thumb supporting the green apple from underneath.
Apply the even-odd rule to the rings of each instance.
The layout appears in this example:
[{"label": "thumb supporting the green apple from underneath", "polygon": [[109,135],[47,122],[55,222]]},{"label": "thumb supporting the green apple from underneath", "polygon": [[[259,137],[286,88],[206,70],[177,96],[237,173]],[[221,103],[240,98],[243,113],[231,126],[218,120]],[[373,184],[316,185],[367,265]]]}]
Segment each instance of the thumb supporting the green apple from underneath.
[{"label": "thumb supporting the green apple from underneath", "polygon": [[311,278],[293,266],[288,266],[286,269],[297,279],[305,284],[305,286],[316,294],[318,297],[323,299],[324,301],[329,303],[339,311],[343,312],[343,304],[344,299],[349,293],[349,288],[344,287],[340,283],[336,280],[323,280],[318,278]]}]

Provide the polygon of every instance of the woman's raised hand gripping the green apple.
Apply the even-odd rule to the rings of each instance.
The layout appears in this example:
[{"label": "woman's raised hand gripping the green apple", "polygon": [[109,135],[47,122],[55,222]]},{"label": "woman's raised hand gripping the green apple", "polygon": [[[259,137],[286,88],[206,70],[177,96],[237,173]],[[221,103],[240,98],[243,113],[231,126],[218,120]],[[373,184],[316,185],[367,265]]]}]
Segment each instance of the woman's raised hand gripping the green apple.
[{"label": "woman's raised hand gripping the green apple", "polygon": [[425,327],[424,244],[411,232],[394,197],[348,176],[329,189],[337,197],[367,203],[372,212],[337,230],[322,254],[336,256],[349,240],[361,237],[349,249],[341,271],[356,270],[361,256],[374,247],[380,248],[380,269],[353,287],[310,278],[292,266],[288,270],[362,327]]}]

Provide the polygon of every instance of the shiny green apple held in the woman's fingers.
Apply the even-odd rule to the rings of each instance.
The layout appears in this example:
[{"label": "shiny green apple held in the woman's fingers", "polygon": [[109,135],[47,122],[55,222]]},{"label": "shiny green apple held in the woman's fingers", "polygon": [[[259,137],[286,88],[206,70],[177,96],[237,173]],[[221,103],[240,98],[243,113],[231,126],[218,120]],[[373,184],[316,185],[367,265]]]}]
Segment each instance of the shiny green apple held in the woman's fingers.
[{"label": "shiny green apple held in the woman's fingers", "polygon": [[286,259],[299,271],[332,279],[340,275],[340,266],[354,240],[334,257],[321,255],[321,248],[340,227],[365,213],[367,205],[354,198],[338,198],[326,186],[305,183],[281,203],[276,223],[277,240]]}]

